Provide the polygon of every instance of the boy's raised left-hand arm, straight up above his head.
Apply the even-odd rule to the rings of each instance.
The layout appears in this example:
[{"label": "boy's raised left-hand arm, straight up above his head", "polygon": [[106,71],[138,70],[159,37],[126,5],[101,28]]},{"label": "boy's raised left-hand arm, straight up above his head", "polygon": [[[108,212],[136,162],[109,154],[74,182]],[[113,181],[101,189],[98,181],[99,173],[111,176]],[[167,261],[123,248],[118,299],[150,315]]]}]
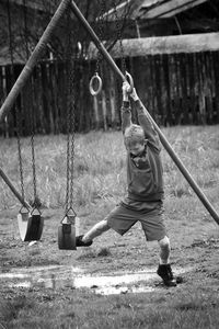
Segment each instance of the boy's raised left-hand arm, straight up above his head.
[{"label": "boy's raised left-hand arm, straight up above his head", "polygon": [[123,104],[122,104],[122,109],[120,109],[123,134],[125,133],[125,129],[131,125],[131,109],[130,109],[130,102],[128,100],[128,88],[129,88],[129,84],[127,82],[124,82],[123,83]]}]

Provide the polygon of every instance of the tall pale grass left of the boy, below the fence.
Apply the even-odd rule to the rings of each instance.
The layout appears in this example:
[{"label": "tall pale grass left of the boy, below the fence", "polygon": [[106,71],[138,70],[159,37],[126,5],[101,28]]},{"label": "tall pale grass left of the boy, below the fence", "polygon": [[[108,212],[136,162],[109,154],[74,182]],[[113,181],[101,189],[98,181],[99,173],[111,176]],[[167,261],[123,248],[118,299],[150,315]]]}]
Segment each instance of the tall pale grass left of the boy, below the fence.
[{"label": "tall pale grass left of the boy, below the fence", "polygon": [[[44,207],[60,207],[66,197],[66,136],[36,137],[37,192]],[[32,200],[33,179],[28,140],[23,140],[24,185]],[[9,178],[20,182],[16,141],[1,140],[1,167]],[[105,151],[103,151],[105,150]],[[99,198],[116,197],[125,191],[125,150],[119,133],[90,133],[76,138],[74,203],[84,206]],[[10,167],[9,167],[10,162]],[[1,182],[2,183],[2,182]],[[0,208],[14,205],[14,197],[1,185]]]}]

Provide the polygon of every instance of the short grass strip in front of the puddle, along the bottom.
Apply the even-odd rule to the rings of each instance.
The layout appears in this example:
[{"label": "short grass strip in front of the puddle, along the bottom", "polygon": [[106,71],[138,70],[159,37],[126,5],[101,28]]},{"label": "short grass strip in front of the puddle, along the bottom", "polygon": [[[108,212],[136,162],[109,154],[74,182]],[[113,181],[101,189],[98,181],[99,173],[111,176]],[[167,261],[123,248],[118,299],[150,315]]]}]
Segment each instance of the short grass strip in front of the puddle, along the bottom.
[{"label": "short grass strip in front of the puddle, along the bottom", "polygon": [[[218,328],[218,296],[184,295],[94,296],[83,292],[35,292],[4,304],[3,328],[205,329]],[[37,297],[36,297],[37,296]],[[54,306],[55,304],[55,306]],[[48,320],[49,314],[49,320]],[[11,319],[9,321],[9,319]],[[8,327],[10,324],[10,327]],[[4,327],[5,326],[5,327]]]}]

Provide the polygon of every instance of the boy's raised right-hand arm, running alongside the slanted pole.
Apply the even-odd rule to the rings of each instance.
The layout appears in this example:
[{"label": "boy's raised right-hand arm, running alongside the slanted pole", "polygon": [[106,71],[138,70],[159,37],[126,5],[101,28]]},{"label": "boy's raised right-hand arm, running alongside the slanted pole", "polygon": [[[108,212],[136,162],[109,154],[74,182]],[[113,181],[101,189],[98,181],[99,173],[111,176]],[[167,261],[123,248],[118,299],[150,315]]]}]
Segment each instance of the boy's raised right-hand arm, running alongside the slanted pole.
[{"label": "boy's raised right-hand arm, running alongside the slanted pole", "polygon": [[134,89],[132,93],[130,94],[130,97],[132,98],[132,100],[135,102],[135,107],[136,107],[137,114],[138,114],[138,122],[145,131],[146,138],[153,147],[155,147],[160,151],[161,143],[160,143],[159,135],[158,135],[157,131],[154,129],[153,123],[150,120],[145,105],[139,100],[135,89]]}]

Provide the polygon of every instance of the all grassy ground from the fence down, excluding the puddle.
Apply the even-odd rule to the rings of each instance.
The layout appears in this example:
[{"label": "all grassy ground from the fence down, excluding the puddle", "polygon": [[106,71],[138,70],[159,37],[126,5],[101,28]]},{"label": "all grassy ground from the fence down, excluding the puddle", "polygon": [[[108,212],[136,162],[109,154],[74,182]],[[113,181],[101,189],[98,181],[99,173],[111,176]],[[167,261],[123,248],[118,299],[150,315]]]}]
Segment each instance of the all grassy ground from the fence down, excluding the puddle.
[{"label": "all grassy ground from the fence down, excluding the puddle", "polygon": [[[216,209],[219,195],[218,126],[162,129],[192,177]],[[45,220],[42,245],[31,249],[16,234],[12,217],[20,204],[0,180],[2,271],[11,266],[71,264],[91,272],[154,266],[158,250],[145,246],[140,228],[118,238],[114,232],[77,253],[57,250],[57,223],[66,197],[66,136],[36,136],[37,192]],[[120,132],[76,136],[73,205],[82,230],[105,216],[126,191],[126,152]],[[26,200],[33,200],[30,139],[22,139]],[[10,288],[0,282],[1,328],[204,329],[219,328],[218,226],[201,205],[165,150],[165,216],[172,241],[172,263],[195,266],[176,290],[95,295],[88,290]],[[0,167],[20,190],[15,139],[0,139]],[[49,214],[49,213],[48,213]],[[54,219],[55,218],[55,219]]]}]

